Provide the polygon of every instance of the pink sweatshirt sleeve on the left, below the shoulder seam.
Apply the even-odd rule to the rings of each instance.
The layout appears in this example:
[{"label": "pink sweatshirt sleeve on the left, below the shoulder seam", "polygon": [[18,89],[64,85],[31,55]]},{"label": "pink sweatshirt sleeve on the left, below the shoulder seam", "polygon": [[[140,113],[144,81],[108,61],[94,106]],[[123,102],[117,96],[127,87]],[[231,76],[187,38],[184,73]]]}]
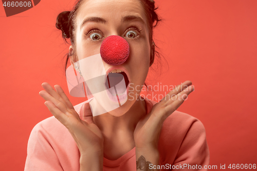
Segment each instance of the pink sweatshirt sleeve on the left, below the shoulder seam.
[{"label": "pink sweatshirt sleeve on the left, below the shoulder seam", "polygon": [[41,122],[36,124],[30,133],[24,170],[63,170],[54,149],[47,140],[46,131]]}]

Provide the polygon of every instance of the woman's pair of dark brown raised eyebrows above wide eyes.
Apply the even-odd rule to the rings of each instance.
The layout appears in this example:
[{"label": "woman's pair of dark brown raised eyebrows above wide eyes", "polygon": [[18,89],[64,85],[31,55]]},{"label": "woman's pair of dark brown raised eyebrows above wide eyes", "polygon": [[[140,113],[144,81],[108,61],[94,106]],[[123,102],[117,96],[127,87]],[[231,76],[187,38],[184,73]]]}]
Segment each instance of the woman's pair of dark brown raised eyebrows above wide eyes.
[{"label": "woman's pair of dark brown raised eyebrows above wide eyes", "polygon": [[[142,23],[145,26],[144,20],[140,16],[137,16],[137,15],[126,15],[126,16],[124,16],[121,19],[121,23],[131,22],[131,21],[134,21],[134,20],[139,21],[140,23]],[[87,22],[96,22],[96,23],[103,23],[103,24],[108,23],[106,20],[104,20],[104,18],[101,18],[101,17],[97,17],[97,16],[88,17],[88,18],[85,18],[83,20],[83,22],[81,23],[80,29]]]}]

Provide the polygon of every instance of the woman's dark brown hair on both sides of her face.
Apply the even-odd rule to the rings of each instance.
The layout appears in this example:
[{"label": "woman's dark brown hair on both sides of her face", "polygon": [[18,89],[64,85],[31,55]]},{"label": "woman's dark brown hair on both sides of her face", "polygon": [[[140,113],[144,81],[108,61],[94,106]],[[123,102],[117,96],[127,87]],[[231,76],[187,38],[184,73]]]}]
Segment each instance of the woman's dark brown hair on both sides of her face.
[{"label": "woman's dark brown hair on both sides of her face", "polygon": [[[78,8],[82,5],[82,3],[85,0],[79,0],[76,2],[76,5],[71,11],[63,11],[57,16],[56,20],[56,28],[62,30],[62,37],[67,42],[67,39],[70,39],[71,45],[74,46],[76,49],[76,40],[75,40],[75,19],[78,13]],[[153,41],[153,28],[155,28],[159,21],[159,16],[155,12],[157,8],[155,8],[155,2],[153,0],[138,0],[140,4],[142,5],[144,9],[144,14],[147,20],[148,29],[149,29],[149,41],[150,41],[150,47],[151,47],[151,59],[155,58],[155,55],[160,58],[159,52],[156,51],[156,45]],[[155,24],[154,24],[155,23]],[[68,42],[67,42],[68,43]],[[154,44],[154,46],[152,46]],[[158,48],[158,47],[157,47]],[[71,55],[73,55],[75,51],[72,52],[72,54],[67,53],[66,58],[66,64],[65,64],[65,71],[67,68],[67,62]]]}]

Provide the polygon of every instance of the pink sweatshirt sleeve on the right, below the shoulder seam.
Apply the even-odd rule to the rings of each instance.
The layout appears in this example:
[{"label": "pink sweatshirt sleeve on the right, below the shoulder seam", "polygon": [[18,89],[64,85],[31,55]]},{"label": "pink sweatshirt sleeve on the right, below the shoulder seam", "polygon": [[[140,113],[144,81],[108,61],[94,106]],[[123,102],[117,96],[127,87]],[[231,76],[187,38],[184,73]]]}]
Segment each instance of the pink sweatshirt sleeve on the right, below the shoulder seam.
[{"label": "pink sweatshirt sleeve on the right, below the shoulder seam", "polygon": [[205,127],[195,118],[181,143],[172,170],[208,170],[209,162]]}]

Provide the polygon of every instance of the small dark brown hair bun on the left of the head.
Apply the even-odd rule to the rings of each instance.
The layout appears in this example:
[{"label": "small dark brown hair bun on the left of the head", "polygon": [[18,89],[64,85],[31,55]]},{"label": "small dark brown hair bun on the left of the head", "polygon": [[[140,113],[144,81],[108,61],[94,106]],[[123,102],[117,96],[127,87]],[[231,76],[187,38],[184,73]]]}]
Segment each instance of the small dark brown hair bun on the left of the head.
[{"label": "small dark brown hair bun on the left of the head", "polygon": [[56,28],[62,30],[62,36],[65,39],[70,37],[69,35],[69,14],[70,11],[61,12],[56,19]]}]

